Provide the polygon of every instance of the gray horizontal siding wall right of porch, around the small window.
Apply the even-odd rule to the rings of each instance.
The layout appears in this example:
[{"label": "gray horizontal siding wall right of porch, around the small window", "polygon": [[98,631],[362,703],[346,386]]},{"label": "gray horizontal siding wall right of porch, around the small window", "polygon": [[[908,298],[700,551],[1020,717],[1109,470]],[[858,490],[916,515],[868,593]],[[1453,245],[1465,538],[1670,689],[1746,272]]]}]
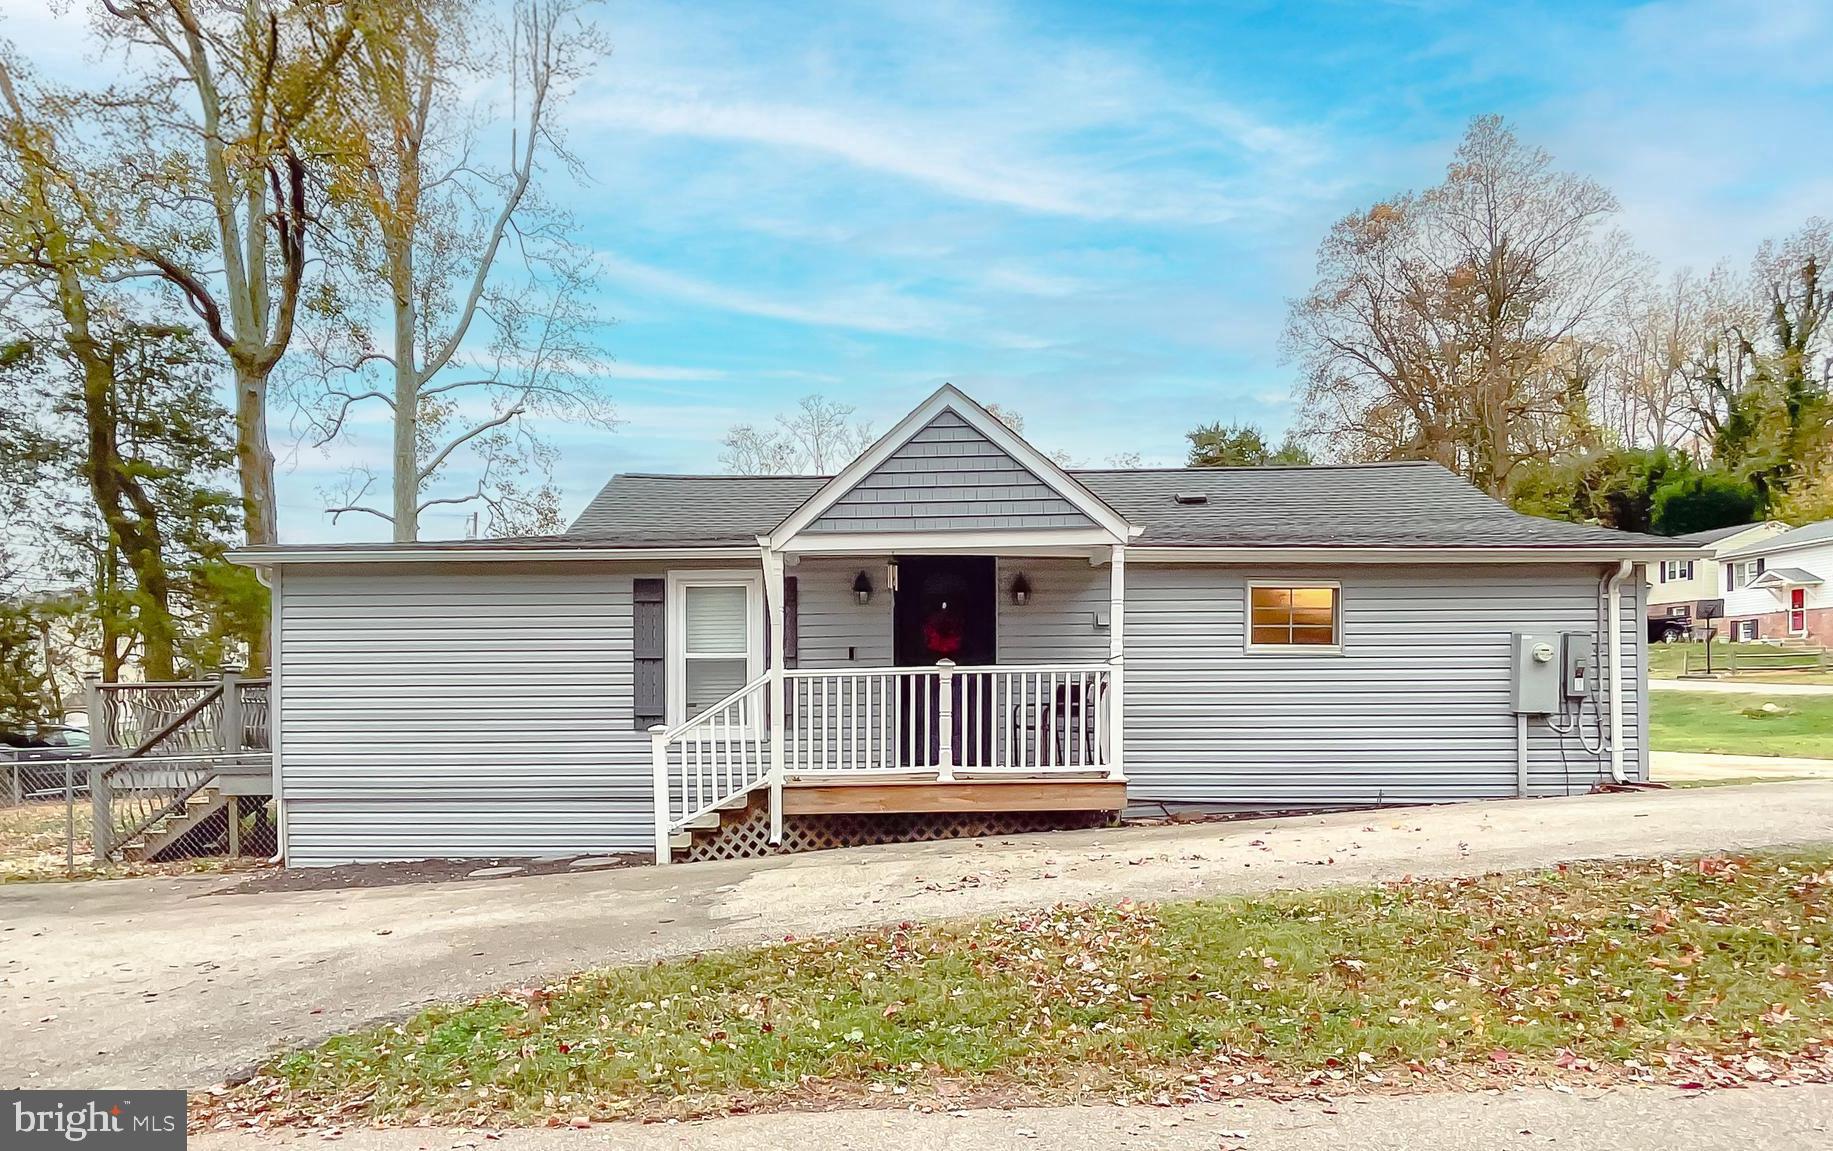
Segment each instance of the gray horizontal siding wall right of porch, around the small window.
[{"label": "gray horizontal siding wall right of porch, around the small window", "polygon": [[[1278,808],[1514,795],[1510,636],[1600,630],[1600,574],[1589,565],[1133,563],[1129,801]],[[1342,585],[1340,654],[1245,651],[1246,585],[1278,577]],[[1641,579],[1622,594],[1626,768],[1644,777]],[[1587,726],[1593,718],[1587,707]],[[1534,794],[1582,792],[1602,764],[1576,737],[1529,720]]]}]

